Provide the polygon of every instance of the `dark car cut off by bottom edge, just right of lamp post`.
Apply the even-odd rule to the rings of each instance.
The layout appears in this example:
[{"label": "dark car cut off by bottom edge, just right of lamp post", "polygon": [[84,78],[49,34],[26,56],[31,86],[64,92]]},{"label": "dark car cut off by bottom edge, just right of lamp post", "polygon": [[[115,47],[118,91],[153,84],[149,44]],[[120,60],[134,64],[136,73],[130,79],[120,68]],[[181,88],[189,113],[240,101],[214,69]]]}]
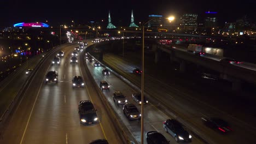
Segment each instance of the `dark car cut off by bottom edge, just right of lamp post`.
[{"label": "dark car cut off by bottom edge, just right of lamp post", "polygon": [[148,144],[168,144],[169,141],[165,138],[164,135],[158,131],[148,131],[146,133],[146,140]]}]

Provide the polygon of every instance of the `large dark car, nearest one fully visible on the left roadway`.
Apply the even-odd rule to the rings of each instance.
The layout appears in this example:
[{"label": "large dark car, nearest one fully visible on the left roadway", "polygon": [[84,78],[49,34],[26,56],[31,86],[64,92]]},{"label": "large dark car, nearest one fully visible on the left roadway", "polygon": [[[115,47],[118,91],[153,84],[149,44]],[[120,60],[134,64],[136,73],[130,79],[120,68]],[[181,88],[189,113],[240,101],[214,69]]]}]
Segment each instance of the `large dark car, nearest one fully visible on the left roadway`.
[{"label": "large dark car, nearest one fully visible on the left roadway", "polygon": [[90,100],[82,100],[78,103],[80,124],[89,125],[98,123],[96,109]]}]

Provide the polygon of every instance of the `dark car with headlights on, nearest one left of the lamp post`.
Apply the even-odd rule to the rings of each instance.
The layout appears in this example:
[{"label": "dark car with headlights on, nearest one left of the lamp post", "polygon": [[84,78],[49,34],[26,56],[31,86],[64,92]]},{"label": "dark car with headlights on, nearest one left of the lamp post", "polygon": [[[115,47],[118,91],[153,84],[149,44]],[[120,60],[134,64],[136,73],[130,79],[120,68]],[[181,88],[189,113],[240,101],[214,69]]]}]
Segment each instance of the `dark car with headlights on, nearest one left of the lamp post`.
[{"label": "dark car with headlights on, nearest one left of the lamp post", "polygon": [[138,111],[137,107],[134,104],[126,103],[123,106],[124,115],[129,119],[141,119],[141,113]]}]

